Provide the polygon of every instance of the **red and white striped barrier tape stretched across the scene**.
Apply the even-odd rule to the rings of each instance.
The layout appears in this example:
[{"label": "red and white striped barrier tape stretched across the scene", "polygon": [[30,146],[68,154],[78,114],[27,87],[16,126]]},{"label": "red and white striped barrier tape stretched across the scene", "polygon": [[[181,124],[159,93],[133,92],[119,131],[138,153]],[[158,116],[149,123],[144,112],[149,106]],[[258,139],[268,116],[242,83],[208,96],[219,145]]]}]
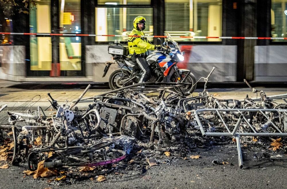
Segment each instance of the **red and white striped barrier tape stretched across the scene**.
[{"label": "red and white striped barrier tape stretched across the scene", "polygon": [[283,39],[286,37],[210,37],[210,36],[129,36],[129,35],[96,35],[96,34],[48,34],[48,33],[12,33],[0,32],[0,34],[8,35],[36,35],[36,36],[106,36],[106,37],[155,37],[155,38],[195,38],[195,39]]}]

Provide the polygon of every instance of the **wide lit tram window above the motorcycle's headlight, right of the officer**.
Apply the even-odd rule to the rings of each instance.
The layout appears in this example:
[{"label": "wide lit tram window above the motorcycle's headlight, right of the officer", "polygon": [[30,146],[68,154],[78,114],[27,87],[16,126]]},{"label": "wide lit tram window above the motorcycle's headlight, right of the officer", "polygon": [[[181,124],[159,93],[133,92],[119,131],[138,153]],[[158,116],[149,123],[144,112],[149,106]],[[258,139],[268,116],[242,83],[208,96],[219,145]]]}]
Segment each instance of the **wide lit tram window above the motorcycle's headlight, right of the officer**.
[{"label": "wide lit tram window above the motorcycle's headlight, right of the officer", "polygon": [[[165,0],[165,31],[170,36],[222,36],[222,0]],[[176,41],[221,41],[174,38]]]}]

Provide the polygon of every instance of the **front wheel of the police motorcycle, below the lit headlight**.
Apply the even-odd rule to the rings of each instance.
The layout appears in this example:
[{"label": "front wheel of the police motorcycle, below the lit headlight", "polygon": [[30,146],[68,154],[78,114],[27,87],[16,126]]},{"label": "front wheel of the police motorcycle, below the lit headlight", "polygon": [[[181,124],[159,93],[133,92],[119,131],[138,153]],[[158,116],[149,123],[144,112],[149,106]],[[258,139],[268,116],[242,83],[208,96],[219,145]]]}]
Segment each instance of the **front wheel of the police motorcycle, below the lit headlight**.
[{"label": "front wheel of the police motorcycle, below the lit headlight", "polygon": [[[193,93],[193,91],[196,89],[196,85],[197,85],[197,84],[194,85],[194,83],[196,83],[196,80],[195,80],[195,76],[193,75],[193,73],[189,73],[189,75],[187,75],[187,73],[188,72],[185,71],[185,72],[183,72],[181,74],[181,78],[182,79],[187,77],[185,79],[184,83],[190,83],[190,85],[186,85],[186,86],[180,87],[185,96],[191,95],[191,93]],[[177,74],[176,73],[174,73],[171,81],[172,82],[180,82],[177,79]],[[176,91],[178,93],[181,93],[181,91],[177,87],[174,88],[174,91]]]}]

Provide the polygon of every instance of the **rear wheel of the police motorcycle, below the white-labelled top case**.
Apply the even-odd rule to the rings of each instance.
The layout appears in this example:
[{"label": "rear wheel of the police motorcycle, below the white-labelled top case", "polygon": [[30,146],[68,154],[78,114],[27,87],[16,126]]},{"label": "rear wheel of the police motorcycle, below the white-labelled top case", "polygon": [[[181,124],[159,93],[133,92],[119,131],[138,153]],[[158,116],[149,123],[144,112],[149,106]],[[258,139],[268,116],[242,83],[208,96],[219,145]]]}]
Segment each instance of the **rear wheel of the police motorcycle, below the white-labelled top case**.
[{"label": "rear wheel of the police motorcycle, below the white-labelled top case", "polygon": [[116,69],[113,71],[113,73],[110,75],[108,80],[108,85],[110,86],[110,89],[115,90],[123,87],[124,81],[128,79],[128,76],[126,74],[123,74],[121,69]]}]

